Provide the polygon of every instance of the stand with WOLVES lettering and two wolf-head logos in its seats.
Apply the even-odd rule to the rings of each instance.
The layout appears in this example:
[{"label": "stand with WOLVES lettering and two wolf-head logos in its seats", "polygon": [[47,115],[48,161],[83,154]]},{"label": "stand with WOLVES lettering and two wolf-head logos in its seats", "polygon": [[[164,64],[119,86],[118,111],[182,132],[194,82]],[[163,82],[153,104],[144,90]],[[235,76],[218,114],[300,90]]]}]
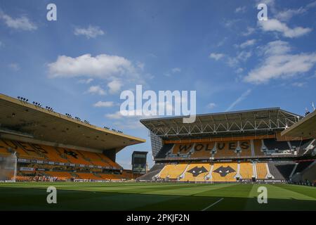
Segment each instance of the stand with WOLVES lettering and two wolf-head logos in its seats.
[{"label": "stand with WOLVES lettering and two wolf-head logos in its seats", "polygon": [[138,180],[313,184],[315,136],[282,135],[302,120],[280,108],[197,115],[190,124],[183,117],[140,120],[150,131],[155,165]]}]

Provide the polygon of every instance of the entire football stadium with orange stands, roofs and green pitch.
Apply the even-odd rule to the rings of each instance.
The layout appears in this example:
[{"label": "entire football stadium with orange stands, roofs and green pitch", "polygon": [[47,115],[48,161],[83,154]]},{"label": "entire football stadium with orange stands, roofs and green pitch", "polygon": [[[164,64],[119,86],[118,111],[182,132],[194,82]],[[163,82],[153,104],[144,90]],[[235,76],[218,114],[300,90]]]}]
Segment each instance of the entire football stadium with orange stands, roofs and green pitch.
[{"label": "entire football stadium with orange stands, roofs and green pitch", "polygon": [[[140,120],[155,161],[141,175],[115,156],[145,140],[0,97],[1,210],[316,209],[316,111],[212,113],[192,124]],[[46,203],[48,186],[58,190],[56,206]],[[269,204],[258,204],[259,187]]]}]

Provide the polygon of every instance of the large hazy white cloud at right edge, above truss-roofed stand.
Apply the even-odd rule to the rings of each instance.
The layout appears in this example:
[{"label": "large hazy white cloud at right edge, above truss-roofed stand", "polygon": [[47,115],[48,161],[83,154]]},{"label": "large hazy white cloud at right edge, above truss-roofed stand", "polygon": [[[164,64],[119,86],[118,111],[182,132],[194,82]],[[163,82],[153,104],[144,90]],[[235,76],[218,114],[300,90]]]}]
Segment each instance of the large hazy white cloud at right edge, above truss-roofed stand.
[{"label": "large hazy white cloud at right edge, above truss-roofed stand", "polygon": [[284,41],[272,41],[263,48],[263,61],[251,70],[245,82],[262,84],[270,79],[287,79],[308,72],[316,64],[316,53],[291,54]]}]

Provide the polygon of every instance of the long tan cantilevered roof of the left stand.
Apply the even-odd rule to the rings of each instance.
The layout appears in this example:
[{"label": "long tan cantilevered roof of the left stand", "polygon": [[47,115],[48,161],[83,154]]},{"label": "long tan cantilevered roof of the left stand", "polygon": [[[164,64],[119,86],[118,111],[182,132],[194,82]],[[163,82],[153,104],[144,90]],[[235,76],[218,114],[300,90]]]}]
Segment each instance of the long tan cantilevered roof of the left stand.
[{"label": "long tan cantilevered roof of the left stand", "polygon": [[119,151],[125,146],[145,142],[144,139],[74,120],[3,94],[0,94],[0,134],[97,150]]}]

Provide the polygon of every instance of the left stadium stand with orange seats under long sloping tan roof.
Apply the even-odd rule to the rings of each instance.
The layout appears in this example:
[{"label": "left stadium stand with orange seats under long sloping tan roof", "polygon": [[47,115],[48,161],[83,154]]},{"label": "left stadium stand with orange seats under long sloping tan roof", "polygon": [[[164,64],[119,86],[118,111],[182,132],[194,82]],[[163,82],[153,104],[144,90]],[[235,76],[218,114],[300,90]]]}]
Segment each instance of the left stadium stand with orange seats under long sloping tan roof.
[{"label": "left stadium stand with orange seats under long sloping tan roof", "polygon": [[[53,112],[25,98],[0,94],[0,179],[114,181],[132,174],[116,162],[126,146],[145,142],[78,117]],[[6,159],[16,155],[16,174]],[[1,177],[2,176],[2,177]],[[7,177],[4,177],[7,176]]]}]

